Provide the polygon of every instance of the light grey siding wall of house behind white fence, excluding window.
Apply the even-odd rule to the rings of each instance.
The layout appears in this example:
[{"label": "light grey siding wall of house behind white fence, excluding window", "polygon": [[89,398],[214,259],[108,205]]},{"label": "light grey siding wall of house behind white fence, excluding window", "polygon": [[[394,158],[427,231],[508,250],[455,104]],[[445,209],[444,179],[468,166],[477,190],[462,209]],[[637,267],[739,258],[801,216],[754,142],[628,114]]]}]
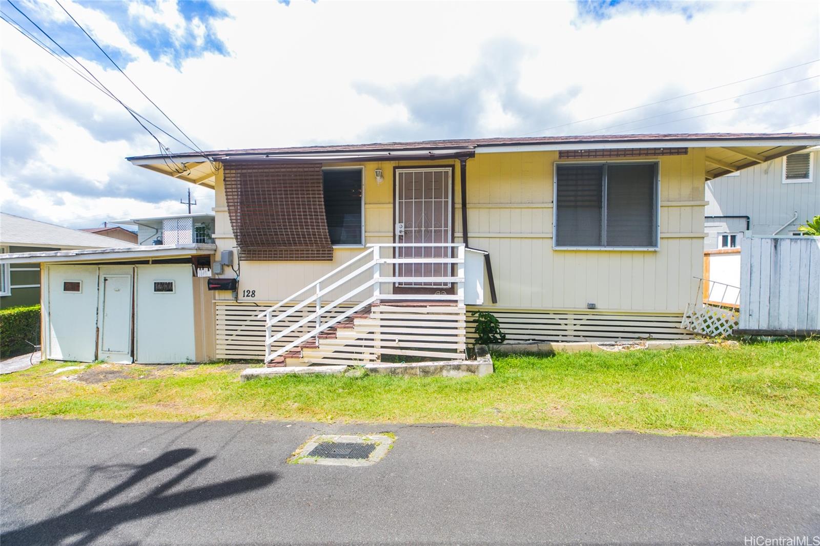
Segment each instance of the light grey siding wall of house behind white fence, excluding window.
[{"label": "light grey siding wall of house behind white fence, excluding window", "polygon": [[[797,230],[807,218],[820,214],[820,152],[812,152],[811,182],[783,184],[784,159],[773,159],[739,171],[734,176],[721,176],[706,183],[706,216],[751,217],[751,234],[772,235],[789,222],[781,235]],[[706,221],[706,248],[717,248],[717,234],[745,230],[744,219]]]}]

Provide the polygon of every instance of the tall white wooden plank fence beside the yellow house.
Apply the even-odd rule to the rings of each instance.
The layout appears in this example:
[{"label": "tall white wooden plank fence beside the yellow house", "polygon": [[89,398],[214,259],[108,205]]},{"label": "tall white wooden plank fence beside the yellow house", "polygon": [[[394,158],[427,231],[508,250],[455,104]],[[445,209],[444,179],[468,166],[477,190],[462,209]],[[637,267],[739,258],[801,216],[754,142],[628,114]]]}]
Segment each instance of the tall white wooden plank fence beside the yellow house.
[{"label": "tall white wooden plank fence beside the yellow house", "polygon": [[740,243],[736,333],[820,333],[820,237],[753,237]]}]

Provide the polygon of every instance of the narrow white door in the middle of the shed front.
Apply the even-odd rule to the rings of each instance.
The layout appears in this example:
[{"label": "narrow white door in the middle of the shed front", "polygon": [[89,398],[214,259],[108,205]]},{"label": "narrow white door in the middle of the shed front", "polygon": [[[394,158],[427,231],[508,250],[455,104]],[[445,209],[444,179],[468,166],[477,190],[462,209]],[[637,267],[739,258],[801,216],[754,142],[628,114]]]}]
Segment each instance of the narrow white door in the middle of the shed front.
[{"label": "narrow white door in the middle of the shed front", "polygon": [[132,362],[131,275],[101,275],[99,358]]}]

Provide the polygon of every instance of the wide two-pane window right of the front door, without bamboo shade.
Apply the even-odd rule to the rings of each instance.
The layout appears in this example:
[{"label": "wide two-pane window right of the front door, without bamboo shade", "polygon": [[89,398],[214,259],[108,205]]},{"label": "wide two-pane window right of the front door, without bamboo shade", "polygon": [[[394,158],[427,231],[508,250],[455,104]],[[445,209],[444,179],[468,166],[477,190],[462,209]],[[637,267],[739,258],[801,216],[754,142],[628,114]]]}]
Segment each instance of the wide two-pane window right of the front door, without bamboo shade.
[{"label": "wide two-pane window right of the front door, without bamboo shade", "polygon": [[658,248],[658,163],[558,164],[555,248]]}]

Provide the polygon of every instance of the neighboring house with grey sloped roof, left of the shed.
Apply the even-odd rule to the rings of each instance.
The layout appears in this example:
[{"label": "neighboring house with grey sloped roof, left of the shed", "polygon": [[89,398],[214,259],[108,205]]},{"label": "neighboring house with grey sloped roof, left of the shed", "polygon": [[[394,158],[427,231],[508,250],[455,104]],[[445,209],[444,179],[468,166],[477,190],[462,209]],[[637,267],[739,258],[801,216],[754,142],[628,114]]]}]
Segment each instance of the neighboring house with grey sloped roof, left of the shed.
[{"label": "neighboring house with grey sloped roof, left of the shed", "polygon": [[[0,254],[107,248],[126,244],[98,234],[0,213]],[[34,305],[39,301],[39,263],[0,265],[0,307]]]}]

